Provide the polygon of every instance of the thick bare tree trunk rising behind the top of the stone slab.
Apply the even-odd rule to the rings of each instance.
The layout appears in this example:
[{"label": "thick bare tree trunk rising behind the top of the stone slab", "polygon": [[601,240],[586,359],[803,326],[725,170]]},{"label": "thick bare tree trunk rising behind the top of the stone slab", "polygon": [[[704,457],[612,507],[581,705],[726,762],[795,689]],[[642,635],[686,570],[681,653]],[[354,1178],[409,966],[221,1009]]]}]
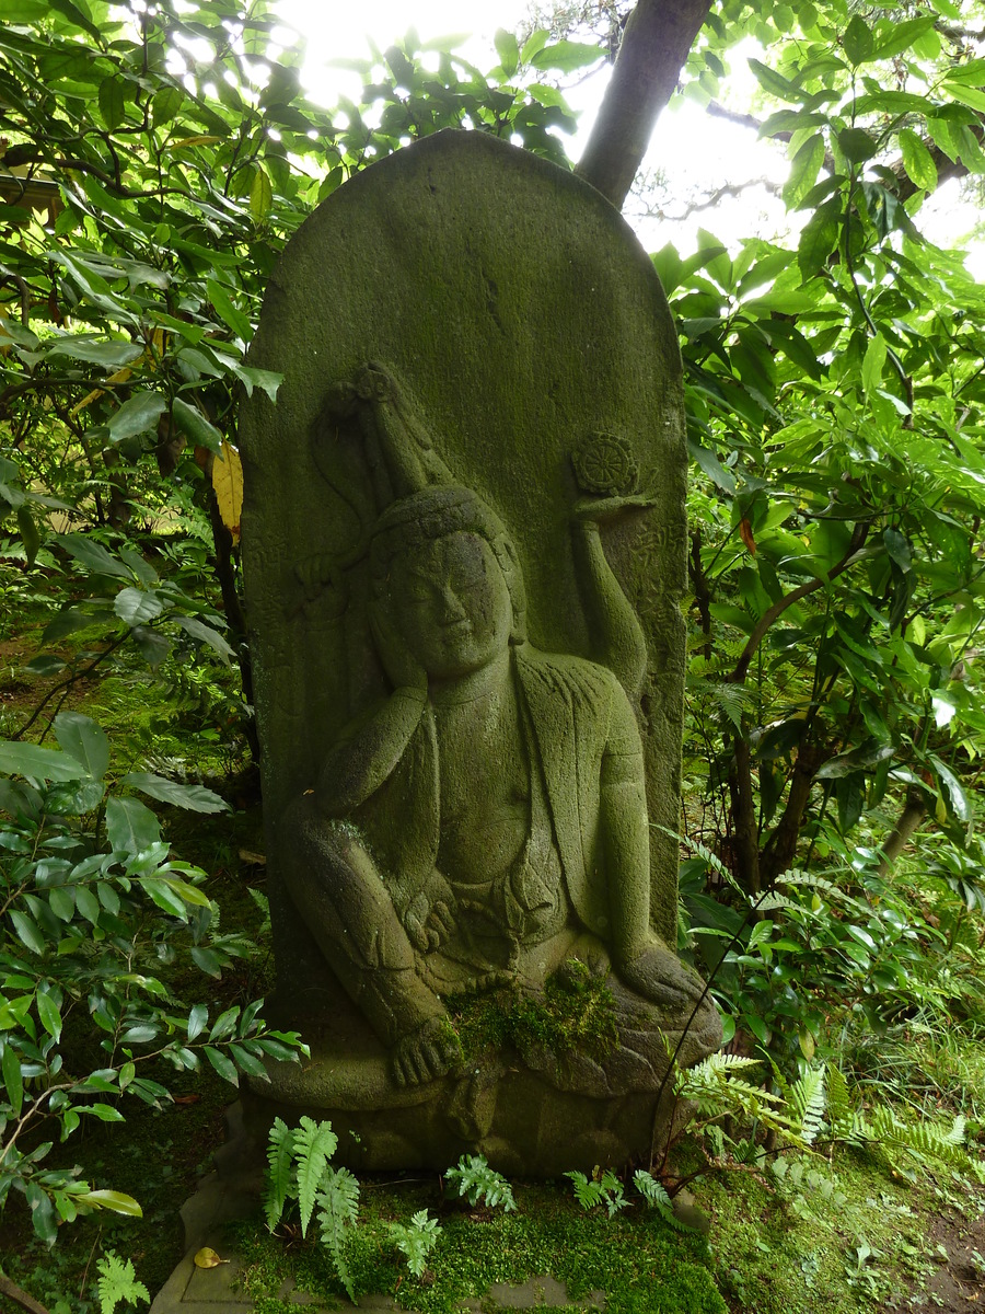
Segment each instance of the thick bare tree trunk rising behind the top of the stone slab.
[{"label": "thick bare tree trunk rising behind the top of the stone slab", "polygon": [[711,8],[712,0],[640,0],[629,16],[599,117],[575,170],[616,209],[623,208]]}]

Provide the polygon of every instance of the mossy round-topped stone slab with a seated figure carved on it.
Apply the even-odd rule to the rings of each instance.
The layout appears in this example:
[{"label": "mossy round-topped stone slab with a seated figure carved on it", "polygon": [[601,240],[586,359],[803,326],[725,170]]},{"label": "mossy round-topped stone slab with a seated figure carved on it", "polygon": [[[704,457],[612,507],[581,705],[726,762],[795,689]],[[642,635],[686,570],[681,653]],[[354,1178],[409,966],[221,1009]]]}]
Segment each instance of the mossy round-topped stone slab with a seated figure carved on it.
[{"label": "mossy round-topped stone slab with a seated figure carved on it", "polygon": [[571,175],[440,134],[296,234],[251,364],[285,376],[242,432],[278,1008],[319,1056],[278,1099],[374,1167],[649,1147],[661,1033],[718,1038],[647,828],[684,583],[649,259]]}]

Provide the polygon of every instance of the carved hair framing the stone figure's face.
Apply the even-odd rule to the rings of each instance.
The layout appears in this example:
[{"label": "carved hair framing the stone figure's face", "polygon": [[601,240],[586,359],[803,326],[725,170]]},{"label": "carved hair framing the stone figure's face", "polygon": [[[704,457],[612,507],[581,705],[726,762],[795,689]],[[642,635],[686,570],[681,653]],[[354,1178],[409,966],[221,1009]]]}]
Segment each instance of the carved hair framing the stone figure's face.
[{"label": "carved hair framing the stone figure's face", "polygon": [[398,553],[414,552],[450,533],[478,533],[503,572],[514,606],[510,641],[527,640],[527,590],[520,558],[506,526],[482,498],[458,484],[432,484],[393,502],[380,516],[369,548],[373,589],[380,593]]}]

